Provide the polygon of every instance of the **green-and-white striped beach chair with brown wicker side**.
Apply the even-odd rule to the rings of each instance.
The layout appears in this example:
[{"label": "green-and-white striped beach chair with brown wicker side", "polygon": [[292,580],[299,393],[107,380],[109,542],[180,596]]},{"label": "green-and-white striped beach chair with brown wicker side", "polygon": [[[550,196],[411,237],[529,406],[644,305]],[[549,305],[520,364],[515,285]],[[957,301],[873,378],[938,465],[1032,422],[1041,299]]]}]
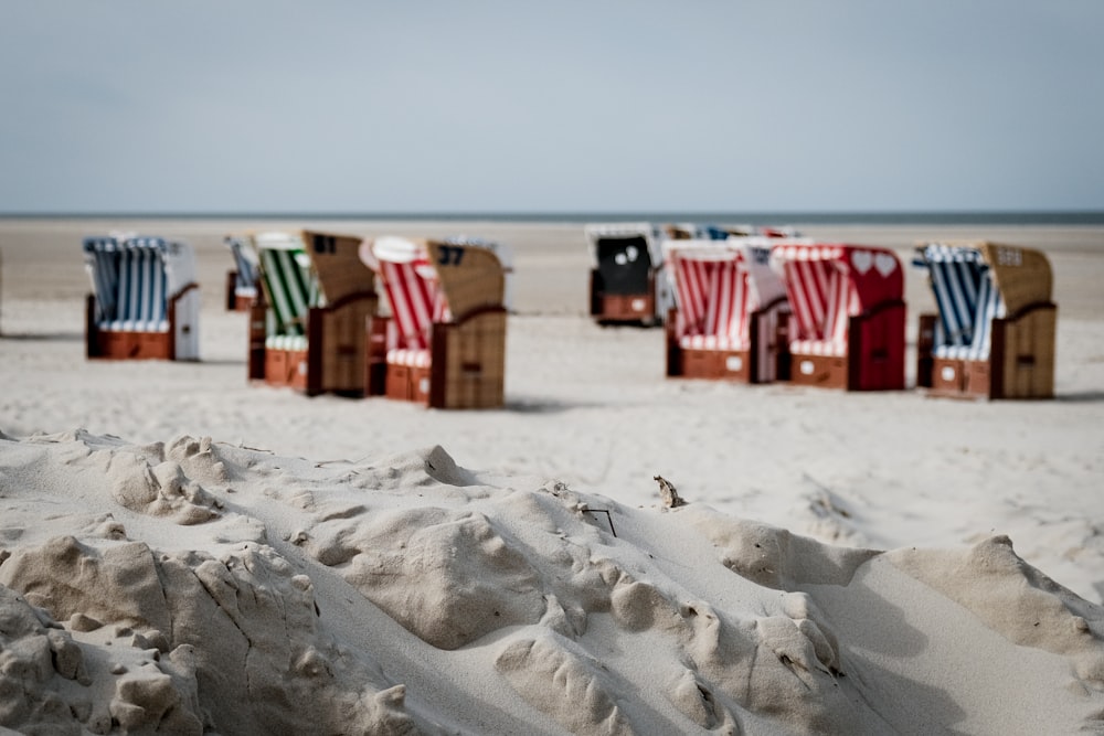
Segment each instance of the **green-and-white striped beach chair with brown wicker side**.
[{"label": "green-and-white striped beach chair with brown wicker side", "polygon": [[361,238],[302,231],[252,236],[261,291],[251,310],[251,380],[308,396],[364,396],[375,274]]}]

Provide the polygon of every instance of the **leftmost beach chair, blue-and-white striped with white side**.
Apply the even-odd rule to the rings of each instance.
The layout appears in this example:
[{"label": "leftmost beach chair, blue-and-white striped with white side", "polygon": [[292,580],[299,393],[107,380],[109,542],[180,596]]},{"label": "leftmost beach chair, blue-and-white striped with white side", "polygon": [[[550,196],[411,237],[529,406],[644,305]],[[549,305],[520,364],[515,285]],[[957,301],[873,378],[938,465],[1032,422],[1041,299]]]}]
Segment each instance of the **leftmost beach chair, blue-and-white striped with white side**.
[{"label": "leftmost beach chair, blue-and-white striped with white side", "polygon": [[92,294],[85,309],[89,359],[199,360],[195,255],[160,237],[86,237]]}]

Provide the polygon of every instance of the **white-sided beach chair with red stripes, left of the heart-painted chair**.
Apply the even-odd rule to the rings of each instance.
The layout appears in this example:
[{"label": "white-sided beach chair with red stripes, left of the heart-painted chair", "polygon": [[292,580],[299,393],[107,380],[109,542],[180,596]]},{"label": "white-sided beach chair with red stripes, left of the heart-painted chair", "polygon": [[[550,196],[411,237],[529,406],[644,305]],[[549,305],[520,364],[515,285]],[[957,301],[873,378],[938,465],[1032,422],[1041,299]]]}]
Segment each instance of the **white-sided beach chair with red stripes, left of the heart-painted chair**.
[{"label": "white-sided beach chair with red stripes, left of the heart-painted chair", "polygon": [[767,238],[665,241],[675,284],[667,375],[767,383],[785,375],[789,302]]}]

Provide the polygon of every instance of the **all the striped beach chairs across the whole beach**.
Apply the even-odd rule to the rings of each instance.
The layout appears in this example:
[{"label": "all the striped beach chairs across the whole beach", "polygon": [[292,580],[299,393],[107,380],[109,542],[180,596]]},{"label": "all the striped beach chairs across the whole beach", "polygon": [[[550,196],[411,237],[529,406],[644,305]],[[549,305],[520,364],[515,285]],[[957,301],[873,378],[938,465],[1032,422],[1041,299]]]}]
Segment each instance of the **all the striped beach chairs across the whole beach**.
[{"label": "all the striped beach chairs across the whole beach", "polygon": [[[905,386],[903,268],[892,250],[790,230],[647,223],[586,228],[591,312],[664,323],[671,377]],[[312,231],[229,236],[226,308],[250,312],[248,377],[308,395],[442,408],[503,404],[510,259],[469,238]],[[84,241],[87,355],[199,358],[194,255],[183,243]],[[923,314],[917,385],[936,395],[1053,395],[1057,307],[1039,252],[925,244],[938,307]]]}]

